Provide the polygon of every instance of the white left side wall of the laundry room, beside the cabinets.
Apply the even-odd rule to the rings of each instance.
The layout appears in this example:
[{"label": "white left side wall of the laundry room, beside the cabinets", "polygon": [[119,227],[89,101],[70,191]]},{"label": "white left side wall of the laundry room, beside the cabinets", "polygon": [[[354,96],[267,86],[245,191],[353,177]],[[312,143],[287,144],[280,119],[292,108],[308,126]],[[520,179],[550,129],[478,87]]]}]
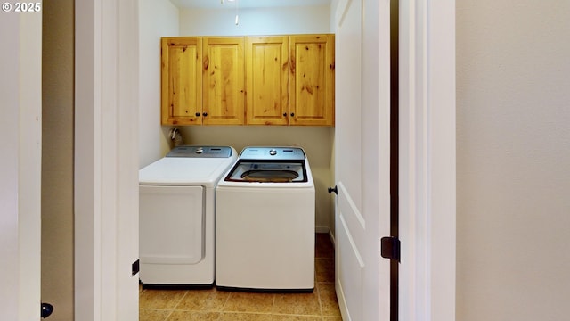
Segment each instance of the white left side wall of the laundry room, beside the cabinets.
[{"label": "white left side wall of the laundry room, beside the cabinets", "polygon": [[170,149],[160,126],[160,37],[178,35],[178,9],[166,0],[139,0],[139,163],[158,160]]}]

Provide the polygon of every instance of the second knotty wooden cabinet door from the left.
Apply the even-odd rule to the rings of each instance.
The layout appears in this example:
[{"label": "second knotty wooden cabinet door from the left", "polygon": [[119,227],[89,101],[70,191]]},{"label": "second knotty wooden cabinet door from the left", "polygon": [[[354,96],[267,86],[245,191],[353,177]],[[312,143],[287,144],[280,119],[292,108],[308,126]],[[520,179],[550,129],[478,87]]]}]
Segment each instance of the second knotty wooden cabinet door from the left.
[{"label": "second knotty wooden cabinet door from the left", "polygon": [[205,125],[242,125],[245,113],[243,37],[204,37],[203,108]]}]

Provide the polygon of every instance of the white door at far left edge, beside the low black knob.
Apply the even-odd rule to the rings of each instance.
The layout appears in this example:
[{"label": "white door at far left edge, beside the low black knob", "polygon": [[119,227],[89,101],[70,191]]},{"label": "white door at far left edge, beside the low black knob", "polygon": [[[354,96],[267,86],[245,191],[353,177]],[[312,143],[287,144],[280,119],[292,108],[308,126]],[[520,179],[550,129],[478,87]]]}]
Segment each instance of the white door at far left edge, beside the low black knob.
[{"label": "white door at far left edge, beside the low black knob", "polygon": [[42,16],[2,12],[0,38],[0,311],[39,320]]}]

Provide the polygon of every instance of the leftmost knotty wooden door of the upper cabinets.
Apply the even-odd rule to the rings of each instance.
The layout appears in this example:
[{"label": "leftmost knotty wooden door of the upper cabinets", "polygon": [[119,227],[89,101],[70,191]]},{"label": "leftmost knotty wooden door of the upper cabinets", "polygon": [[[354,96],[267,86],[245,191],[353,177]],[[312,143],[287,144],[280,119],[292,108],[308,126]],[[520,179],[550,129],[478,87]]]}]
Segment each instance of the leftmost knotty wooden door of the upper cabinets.
[{"label": "leftmost knotty wooden door of the upper cabinets", "polygon": [[202,40],[198,37],[162,38],[161,57],[162,124],[200,124]]}]

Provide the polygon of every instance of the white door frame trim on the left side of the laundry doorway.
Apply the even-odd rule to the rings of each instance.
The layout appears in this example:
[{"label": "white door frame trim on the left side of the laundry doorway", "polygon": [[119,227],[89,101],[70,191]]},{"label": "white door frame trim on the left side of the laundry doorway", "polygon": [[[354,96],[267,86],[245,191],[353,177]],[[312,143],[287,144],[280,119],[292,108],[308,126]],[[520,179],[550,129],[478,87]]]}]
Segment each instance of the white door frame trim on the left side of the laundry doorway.
[{"label": "white door frame trim on the left side of the laundry doorway", "polygon": [[138,320],[138,1],[75,4],[75,319]]}]

